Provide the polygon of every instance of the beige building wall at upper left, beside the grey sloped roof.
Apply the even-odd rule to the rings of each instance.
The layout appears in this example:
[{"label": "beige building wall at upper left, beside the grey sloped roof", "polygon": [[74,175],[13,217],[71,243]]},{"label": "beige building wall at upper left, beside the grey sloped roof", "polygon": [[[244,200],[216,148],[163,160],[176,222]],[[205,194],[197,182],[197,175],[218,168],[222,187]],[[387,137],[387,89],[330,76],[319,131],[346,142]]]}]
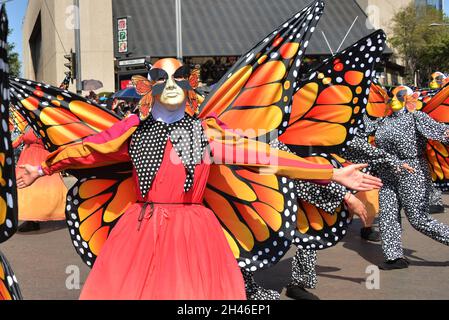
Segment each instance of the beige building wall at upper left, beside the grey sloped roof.
[{"label": "beige building wall at upper left, beside the grey sloped roof", "polygon": [[[73,0],[32,0],[23,22],[24,77],[59,85],[68,70],[64,55],[75,47],[78,14]],[[80,0],[82,80],[103,82],[114,91],[112,0]],[[76,90],[76,84],[70,90]]]}]

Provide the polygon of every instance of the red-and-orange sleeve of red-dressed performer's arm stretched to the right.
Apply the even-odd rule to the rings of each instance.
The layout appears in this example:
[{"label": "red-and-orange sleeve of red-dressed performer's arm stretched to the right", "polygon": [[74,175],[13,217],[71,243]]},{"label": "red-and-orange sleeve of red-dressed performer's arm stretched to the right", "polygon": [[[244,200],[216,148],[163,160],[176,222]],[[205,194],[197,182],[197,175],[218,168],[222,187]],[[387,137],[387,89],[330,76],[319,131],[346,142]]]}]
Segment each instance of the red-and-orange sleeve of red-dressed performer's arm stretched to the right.
[{"label": "red-and-orange sleeve of red-dressed performer's arm stretched to the right", "polygon": [[291,179],[311,180],[328,184],[333,176],[331,165],[320,165],[285,151],[272,149],[268,144],[242,137],[216,119],[203,121],[213,161],[248,167],[262,174],[276,174]]}]

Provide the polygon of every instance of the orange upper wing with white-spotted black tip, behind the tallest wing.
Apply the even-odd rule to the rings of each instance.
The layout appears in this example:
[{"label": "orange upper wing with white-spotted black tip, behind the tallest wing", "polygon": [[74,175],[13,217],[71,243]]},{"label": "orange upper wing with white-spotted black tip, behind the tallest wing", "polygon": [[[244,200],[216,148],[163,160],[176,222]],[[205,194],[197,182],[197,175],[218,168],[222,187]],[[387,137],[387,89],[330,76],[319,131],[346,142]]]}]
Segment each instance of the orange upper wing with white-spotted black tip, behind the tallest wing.
[{"label": "orange upper wing with white-spotted black tip, behind the tallest wing", "polygon": [[386,36],[379,30],[311,71],[295,89],[286,131],[279,140],[301,156],[345,151],[363,130],[374,67]]}]

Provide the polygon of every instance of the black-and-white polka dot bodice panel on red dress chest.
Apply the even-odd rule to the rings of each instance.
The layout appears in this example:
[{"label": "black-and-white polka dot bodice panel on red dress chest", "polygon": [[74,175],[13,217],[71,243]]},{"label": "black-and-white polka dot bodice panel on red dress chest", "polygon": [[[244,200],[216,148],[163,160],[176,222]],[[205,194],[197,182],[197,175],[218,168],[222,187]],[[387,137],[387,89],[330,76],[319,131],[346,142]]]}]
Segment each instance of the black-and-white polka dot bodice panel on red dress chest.
[{"label": "black-and-white polka dot bodice panel on red dress chest", "polygon": [[[174,153],[164,159],[168,141]],[[184,191],[188,192],[194,184],[195,168],[202,162],[207,147],[199,120],[186,115],[178,122],[166,124],[150,116],[133,134],[129,148],[142,196],[150,191],[163,161],[184,167]]]}]

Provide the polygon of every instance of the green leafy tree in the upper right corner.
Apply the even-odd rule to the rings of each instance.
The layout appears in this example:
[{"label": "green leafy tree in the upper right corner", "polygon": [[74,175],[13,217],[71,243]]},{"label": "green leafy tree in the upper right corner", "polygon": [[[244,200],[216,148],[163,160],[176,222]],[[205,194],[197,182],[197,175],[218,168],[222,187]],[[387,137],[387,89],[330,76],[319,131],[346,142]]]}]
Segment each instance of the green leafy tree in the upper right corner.
[{"label": "green leafy tree in the upper right corner", "polygon": [[[405,76],[425,85],[434,71],[449,72],[449,19],[433,7],[416,7],[414,2],[393,18],[390,44],[403,57]],[[432,24],[443,24],[432,27]]]}]

